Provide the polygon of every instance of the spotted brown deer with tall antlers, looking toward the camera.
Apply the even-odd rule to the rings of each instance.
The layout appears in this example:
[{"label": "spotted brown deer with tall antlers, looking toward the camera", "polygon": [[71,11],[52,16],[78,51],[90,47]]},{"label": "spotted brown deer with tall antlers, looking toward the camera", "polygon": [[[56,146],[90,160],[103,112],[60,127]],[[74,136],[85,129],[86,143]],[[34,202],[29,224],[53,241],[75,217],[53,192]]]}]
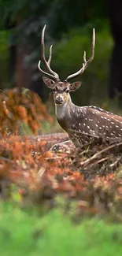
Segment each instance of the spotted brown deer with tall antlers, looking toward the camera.
[{"label": "spotted brown deer with tall antlers, looking toward the camera", "polygon": [[86,51],[83,54],[83,65],[79,71],[68,76],[63,82],[59,79],[57,72],[50,68],[50,61],[52,58],[52,45],[50,46],[49,59],[45,58],[45,35],[46,25],[42,32],[42,54],[41,61],[46,66],[48,72],[41,68],[41,61],[39,61],[39,70],[43,73],[43,81],[54,94],[55,113],[57,121],[61,128],[68,133],[70,139],[76,147],[89,143],[91,139],[99,136],[105,139],[122,139],[122,117],[105,111],[96,106],[76,106],[73,104],[70,97],[70,91],[76,91],[81,82],[77,81],[70,83],[70,81],[77,76],[83,74],[84,70],[94,59],[95,46],[95,31],[93,29],[91,58],[86,59]]}]

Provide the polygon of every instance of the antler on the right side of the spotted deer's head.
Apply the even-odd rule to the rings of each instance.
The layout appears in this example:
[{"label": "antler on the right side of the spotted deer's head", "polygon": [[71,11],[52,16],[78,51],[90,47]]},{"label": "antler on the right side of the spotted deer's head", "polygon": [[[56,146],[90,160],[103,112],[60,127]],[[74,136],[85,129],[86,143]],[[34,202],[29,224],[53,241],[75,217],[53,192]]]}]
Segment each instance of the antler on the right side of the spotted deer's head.
[{"label": "antler on the right side of the spotted deer's head", "polygon": [[87,69],[87,66],[91,63],[91,61],[93,61],[94,59],[94,46],[95,46],[95,30],[93,28],[93,35],[92,35],[92,49],[91,49],[91,58],[89,58],[89,60],[86,60],[86,51],[84,51],[83,54],[83,66],[81,69],[79,69],[79,71],[77,71],[76,73],[73,73],[72,75],[68,76],[66,78],[66,81],[69,81],[73,78],[76,78],[76,76],[82,75],[84,70]]}]

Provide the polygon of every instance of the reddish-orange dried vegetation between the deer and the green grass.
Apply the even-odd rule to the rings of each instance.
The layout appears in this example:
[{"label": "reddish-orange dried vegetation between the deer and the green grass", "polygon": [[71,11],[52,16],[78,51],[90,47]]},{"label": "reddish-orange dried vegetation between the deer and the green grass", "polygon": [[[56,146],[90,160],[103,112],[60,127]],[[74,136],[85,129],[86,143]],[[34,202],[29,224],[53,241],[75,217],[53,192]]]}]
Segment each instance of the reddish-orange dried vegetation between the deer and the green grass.
[{"label": "reddish-orange dried vegetation between the deer and the green grass", "polygon": [[86,168],[83,161],[87,155],[81,157],[79,153],[68,150],[57,154],[46,151],[43,140],[10,135],[0,139],[0,182],[16,184],[22,202],[31,198],[42,205],[47,199],[54,202],[60,195],[68,203],[77,202],[78,215],[120,213],[122,182],[118,174],[107,169],[105,163],[98,163],[98,159],[94,159],[94,169],[93,162]]}]

